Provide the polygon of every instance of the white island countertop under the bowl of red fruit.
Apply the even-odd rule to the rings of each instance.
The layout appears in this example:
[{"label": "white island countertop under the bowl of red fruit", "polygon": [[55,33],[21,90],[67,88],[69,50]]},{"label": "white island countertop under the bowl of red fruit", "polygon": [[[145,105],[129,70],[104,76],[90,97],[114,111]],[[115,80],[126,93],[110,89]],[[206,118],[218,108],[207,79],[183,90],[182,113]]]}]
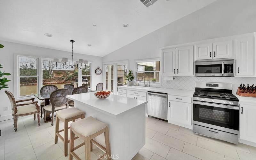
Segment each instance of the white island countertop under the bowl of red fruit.
[{"label": "white island countertop under the bowl of red fruit", "polygon": [[114,94],[104,100],[100,100],[94,96],[95,92],[73,94],[66,96],[70,100],[76,102],[84,103],[89,107],[98,110],[100,112],[106,113],[110,116],[116,117],[117,115],[122,115],[126,111],[135,108],[141,104],[146,104],[146,100],[136,100],[133,98],[122,97]]}]

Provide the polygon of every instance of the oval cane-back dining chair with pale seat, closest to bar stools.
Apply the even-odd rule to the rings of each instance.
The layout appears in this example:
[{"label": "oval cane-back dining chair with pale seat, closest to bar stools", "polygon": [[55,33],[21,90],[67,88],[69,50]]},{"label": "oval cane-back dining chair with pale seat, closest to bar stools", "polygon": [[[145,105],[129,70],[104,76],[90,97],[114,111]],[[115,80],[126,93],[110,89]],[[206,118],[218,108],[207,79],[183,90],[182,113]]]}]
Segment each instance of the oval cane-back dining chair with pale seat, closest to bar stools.
[{"label": "oval cane-back dining chair with pale seat, closest to bar stools", "polygon": [[46,112],[52,113],[52,126],[54,112],[68,108],[68,98],[66,98],[67,95],[70,95],[70,91],[65,88],[53,91],[50,95],[51,104],[44,106],[43,108],[44,119],[46,119]]}]

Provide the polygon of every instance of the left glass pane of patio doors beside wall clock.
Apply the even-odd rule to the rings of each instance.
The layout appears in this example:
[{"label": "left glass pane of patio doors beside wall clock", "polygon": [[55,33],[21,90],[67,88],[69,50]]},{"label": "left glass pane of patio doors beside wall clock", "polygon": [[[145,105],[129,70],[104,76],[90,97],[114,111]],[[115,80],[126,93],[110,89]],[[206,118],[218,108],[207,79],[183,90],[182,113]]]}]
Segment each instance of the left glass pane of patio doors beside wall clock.
[{"label": "left glass pane of patio doors beside wall clock", "polygon": [[105,66],[106,91],[114,92],[114,65]]}]

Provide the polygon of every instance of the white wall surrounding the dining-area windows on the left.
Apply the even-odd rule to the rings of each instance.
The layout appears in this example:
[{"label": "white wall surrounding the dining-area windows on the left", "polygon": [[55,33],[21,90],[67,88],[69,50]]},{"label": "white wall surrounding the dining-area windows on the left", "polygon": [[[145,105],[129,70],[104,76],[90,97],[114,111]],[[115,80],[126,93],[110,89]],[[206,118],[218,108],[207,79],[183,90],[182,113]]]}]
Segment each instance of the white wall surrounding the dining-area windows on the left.
[{"label": "white wall surrounding the dining-area windows on the left", "polygon": [[[14,64],[17,63],[14,61],[14,54],[19,55],[28,55],[28,56],[35,56],[35,57],[44,57],[44,58],[62,58],[67,57],[71,59],[71,52],[65,52],[60,50],[54,50],[54,49],[48,49],[48,48],[42,48],[42,47],[36,47],[31,45],[25,45],[25,44],[18,44],[18,43],[11,43],[11,42],[5,42],[0,41],[0,44],[4,45],[4,48],[0,49],[0,64],[4,66],[2,71],[11,73],[11,76],[8,76],[8,79],[11,80],[9,82],[10,89],[7,89],[14,92]],[[75,46],[74,46],[75,47]],[[71,50],[71,48],[70,48]],[[75,48],[74,48],[75,50]],[[84,55],[84,54],[78,54],[74,53],[75,60],[78,59],[84,59],[92,61],[92,89],[95,89],[96,85],[98,83],[102,82],[102,74],[96,75],[94,70],[100,66],[102,66],[102,57],[98,56],[91,56],[91,55]],[[4,93],[4,90],[0,91],[0,120],[3,120],[4,117],[9,117],[9,115],[12,113],[11,111],[11,104],[7,97],[7,95]],[[15,97],[16,98],[16,97]],[[8,111],[4,111],[4,107],[8,106]]]}]

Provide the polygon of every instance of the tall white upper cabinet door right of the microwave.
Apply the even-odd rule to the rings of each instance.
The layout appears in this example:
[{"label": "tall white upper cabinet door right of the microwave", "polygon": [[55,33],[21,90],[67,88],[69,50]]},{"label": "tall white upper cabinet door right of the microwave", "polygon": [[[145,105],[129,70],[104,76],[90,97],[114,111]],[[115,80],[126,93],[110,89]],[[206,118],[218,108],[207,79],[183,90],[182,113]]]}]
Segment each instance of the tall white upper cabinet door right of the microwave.
[{"label": "tall white upper cabinet door right of the microwave", "polygon": [[236,39],[236,76],[253,76],[253,37]]}]

